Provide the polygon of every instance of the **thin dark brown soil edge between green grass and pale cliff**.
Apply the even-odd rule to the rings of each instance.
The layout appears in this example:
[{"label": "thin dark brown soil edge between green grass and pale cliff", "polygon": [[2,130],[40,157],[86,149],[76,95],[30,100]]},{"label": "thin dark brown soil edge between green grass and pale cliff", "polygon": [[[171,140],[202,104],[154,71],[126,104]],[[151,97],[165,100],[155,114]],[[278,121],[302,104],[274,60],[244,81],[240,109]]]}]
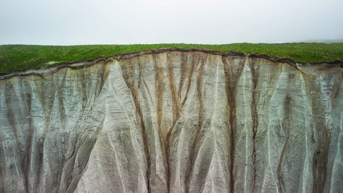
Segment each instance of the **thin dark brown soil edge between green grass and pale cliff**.
[{"label": "thin dark brown soil edge between green grass and pale cliff", "polygon": [[32,69],[26,69],[26,70],[19,70],[19,71],[12,71],[12,72],[6,72],[6,73],[0,73],[0,80],[3,79],[9,79],[13,76],[29,76],[29,75],[38,75],[38,76],[47,76],[48,74],[54,73],[58,71],[61,68],[72,68],[72,69],[78,69],[83,67],[89,67],[92,66],[100,61],[105,61],[105,63],[113,60],[120,60],[120,59],[129,59],[136,56],[146,55],[146,54],[153,54],[153,53],[163,53],[168,51],[180,51],[180,52],[190,52],[190,51],[199,51],[204,53],[210,53],[213,55],[221,55],[221,56],[241,56],[241,57],[255,57],[255,58],[262,58],[266,60],[270,60],[272,62],[283,62],[288,63],[292,66],[294,66],[296,69],[299,65],[317,65],[317,64],[330,64],[330,65],[340,65],[343,67],[343,61],[336,60],[333,62],[321,62],[321,63],[311,63],[311,62],[296,62],[293,59],[285,58],[280,59],[273,56],[268,56],[266,54],[246,54],[246,53],[240,53],[240,52],[234,52],[230,51],[227,53],[221,52],[221,51],[213,51],[213,50],[206,50],[206,49],[199,49],[199,48],[191,48],[191,49],[181,49],[178,47],[174,48],[161,48],[161,49],[149,49],[149,50],[142,50],[142,51],[135,51],[135,52],[129,52],[119,55],[114,55],[110,57],[98,57],[96,59],[92,60],[82,60],[82,61],[76,61],[76,62],[62,62],[57,64],[48,65],[45,67],[39,67],[39,68],[32,68]]}]

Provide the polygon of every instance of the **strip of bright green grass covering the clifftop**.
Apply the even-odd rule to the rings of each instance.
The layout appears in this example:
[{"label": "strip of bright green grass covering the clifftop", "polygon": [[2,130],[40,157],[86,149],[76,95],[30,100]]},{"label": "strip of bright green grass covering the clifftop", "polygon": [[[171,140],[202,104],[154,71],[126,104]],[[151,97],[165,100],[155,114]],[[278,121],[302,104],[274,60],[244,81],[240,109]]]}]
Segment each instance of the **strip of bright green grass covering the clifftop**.
[{"label": "strip of bright green grass covering the clifftop", "polygon": [[285,44],[135,44],[135,45],[83,45],[83,46],[37,46],[0,45],[0,73],[37,68],[60,62],[95,59],[120,53],[179,47],[182,49],[204,48],[224,53],[229,51],[248,54],[267,54],[278,58],[291,58],[297,62],[343,61],[343,43],[285,43]]}]

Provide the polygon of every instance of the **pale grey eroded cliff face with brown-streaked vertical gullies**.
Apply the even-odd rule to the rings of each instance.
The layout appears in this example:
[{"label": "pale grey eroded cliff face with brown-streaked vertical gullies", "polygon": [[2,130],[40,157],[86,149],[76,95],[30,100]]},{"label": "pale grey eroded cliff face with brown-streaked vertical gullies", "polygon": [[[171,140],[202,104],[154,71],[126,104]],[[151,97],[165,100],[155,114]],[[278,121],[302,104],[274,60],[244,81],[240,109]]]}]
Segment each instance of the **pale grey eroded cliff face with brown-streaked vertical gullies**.
[{"label": "pale grey eroded cliff face with brown-streaked vertical gullies", "polygon": [[168,51],[0,80],[0,192],[339,192],[342,73]]}]

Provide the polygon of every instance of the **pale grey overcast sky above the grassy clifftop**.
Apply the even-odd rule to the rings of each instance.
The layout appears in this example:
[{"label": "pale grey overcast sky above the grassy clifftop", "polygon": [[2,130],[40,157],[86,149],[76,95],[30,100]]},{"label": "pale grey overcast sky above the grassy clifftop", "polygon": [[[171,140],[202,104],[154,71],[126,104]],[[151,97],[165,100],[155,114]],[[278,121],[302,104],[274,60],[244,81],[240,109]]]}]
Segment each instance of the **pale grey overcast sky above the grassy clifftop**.
[{"label": "pale grey overcast sky above the grassy clifftop", "polygon": [[0,2],[0,45],[283,43],[343,37],[342,0]]}]

